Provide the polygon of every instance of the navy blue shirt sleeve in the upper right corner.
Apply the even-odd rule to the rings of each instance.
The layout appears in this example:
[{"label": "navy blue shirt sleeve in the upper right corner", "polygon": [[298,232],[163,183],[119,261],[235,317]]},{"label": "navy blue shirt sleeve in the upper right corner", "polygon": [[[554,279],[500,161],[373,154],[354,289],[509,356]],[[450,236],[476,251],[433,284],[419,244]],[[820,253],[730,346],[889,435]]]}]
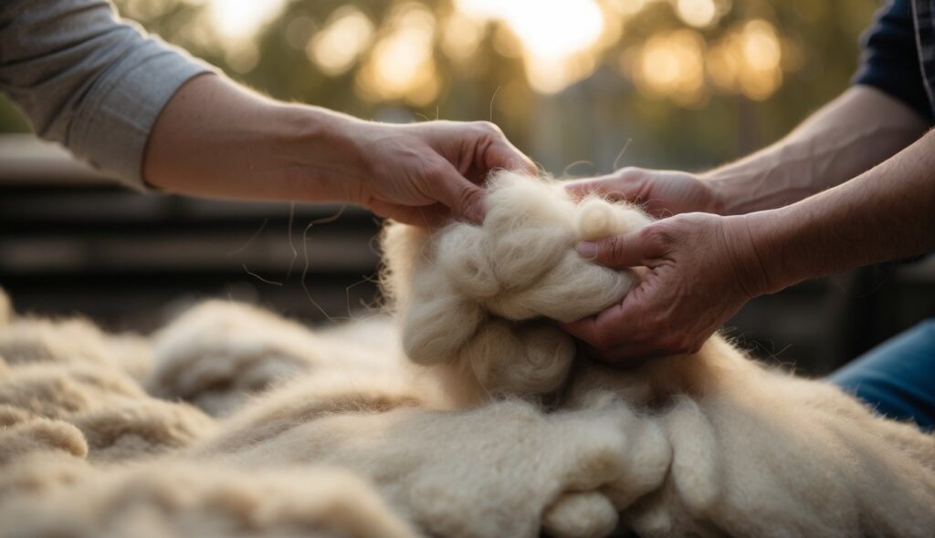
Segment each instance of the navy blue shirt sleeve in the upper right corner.
[{"label": "navy blue shirt sleeve in the upper right corner", "polygon": [[878,88],[912,106],[929,124],[935,119],[933,0],[891,0],[863,35],[855,84]]}]

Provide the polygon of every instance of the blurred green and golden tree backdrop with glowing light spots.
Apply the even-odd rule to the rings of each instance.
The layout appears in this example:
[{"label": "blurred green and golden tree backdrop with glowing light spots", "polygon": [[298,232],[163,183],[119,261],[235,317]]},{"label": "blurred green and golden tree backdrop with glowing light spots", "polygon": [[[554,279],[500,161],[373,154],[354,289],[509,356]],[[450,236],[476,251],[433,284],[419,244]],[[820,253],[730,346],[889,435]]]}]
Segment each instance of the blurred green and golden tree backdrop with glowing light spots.
[{"label": "blurred green and golden tree backdrop with glowing light spots", "polygon": [[[698,168],[841,92],[874,0],[119,0],[261,92],[378,120],[487,120],[561,175]],[[496,95],[496,97],[495,97]],[[0,131],[23,122],[0,103]]]}]

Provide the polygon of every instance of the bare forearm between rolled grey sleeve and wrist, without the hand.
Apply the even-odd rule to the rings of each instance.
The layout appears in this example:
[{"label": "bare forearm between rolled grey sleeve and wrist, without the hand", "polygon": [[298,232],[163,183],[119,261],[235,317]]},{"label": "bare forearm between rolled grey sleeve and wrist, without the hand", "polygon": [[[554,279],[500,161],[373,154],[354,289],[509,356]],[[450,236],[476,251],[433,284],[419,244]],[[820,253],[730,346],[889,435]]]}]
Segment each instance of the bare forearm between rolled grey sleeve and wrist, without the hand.
[{"label": "bare forearm between rolled grey sleeve and wrist, without the hand", "polygon": [[347,134],[358,123],[286,105],[213,75],[194,78],[150,135],[143,177],[165,191],[241,199],[348,201],[359,162]]}]

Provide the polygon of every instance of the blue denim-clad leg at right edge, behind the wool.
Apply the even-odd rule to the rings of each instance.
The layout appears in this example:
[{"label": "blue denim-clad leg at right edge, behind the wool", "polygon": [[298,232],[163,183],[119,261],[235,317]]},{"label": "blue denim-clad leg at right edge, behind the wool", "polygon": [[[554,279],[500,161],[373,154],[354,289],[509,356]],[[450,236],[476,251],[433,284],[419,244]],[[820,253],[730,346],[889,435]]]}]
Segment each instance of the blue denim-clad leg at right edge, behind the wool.
[{"label": "blue denim-clad leg at right edge, behind the wool", "polygon": [[828,381],[889,418],[935,428],[935,319],[874,347]]}]

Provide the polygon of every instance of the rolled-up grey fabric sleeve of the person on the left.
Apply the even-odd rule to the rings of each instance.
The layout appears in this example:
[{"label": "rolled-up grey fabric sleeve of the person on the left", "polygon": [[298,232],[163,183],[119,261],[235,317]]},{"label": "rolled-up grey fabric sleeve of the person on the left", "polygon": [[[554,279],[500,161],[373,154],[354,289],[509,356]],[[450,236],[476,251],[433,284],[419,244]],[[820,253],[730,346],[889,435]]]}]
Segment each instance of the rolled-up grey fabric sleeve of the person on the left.
[{"label": "rolled-up grey fabric sleeve of the person on the left", "polygon": [[185,81],[212,70],[120,21],[106,0],[0,2],[0,90],[36,134],[140,189],[159,113]]}]

